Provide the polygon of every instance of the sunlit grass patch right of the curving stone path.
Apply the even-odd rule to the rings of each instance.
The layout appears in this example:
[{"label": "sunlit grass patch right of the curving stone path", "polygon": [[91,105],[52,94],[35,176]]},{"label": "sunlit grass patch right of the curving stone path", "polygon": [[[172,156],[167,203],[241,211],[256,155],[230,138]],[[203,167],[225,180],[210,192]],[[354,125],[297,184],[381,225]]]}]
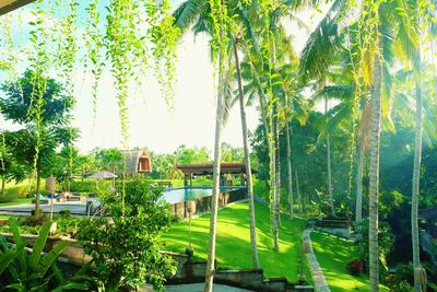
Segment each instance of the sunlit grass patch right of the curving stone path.
[{"label": "sunlit grass patch right of the curving stone path", "polygon": [[[354,277],[346,269],[346,264],[358,257],[353,243],[318,232],[311,233],[311,242],[331,291],[369,291],[367,276]],[[380,291],[389,290],[381,285]]]}]

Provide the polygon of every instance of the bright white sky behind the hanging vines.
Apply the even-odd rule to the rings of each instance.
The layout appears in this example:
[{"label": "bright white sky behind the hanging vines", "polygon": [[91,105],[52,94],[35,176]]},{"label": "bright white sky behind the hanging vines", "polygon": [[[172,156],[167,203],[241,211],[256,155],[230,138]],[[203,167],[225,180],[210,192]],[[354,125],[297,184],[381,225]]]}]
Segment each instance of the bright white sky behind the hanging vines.
[{"label": "bright white sky behind the hanging vines", "polygon": [[[181,2],[175,0],[173,2]],[[25,8],[19,13],[28,13]],[[320,15],[302,12],[299,16],[314,27]],[[291,31],[298,32],[295,47],[299,51],[305,45],[307,33],[293,24]],[[294,27],[293,27],[294,26]],[[208,38],[203,35],[193,37],[187,34],[178,48],[177,84],[175,110],[172,113],[160,97],[158,85],[153,78],[144,80],[142,89],[132,92],[129,98],[130,143],[133,147],[146,147],[155,152],[173,152],[178,145],[206,147],[212,151],[215,129],[214,74],[210,62]],[[108,72],[99,83],[97,117],[93,118],[91,95],[92,77],[83,70],[74,75],[76,108],[73,126],[81,130],[76,145],[82,152],[96,147],[120,147],[120,127],[117,101],[113,87],[114,80]],[[249,130],[259,122],[255,107],[247,108]],[[0,119],[0,128],[15,128]],[[223,131],[223,141],[241,147],[241,126],[238,106],[229,114]]]}]

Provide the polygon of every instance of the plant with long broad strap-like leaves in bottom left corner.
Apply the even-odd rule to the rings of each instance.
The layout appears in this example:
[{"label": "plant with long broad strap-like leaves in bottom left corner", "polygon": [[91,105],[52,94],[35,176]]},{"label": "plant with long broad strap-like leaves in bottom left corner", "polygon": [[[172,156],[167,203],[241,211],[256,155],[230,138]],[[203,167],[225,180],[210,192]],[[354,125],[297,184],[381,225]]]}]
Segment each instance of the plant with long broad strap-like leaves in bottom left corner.
[{"label": "plant with long broad strap-like leaves in bottom left corner", "polygon": [[9,226],[14,237],[15,247],[10,248],[5,238],[0,235],[0,288],[15,289],[19,291],[54,291],[67,287],[74,290],[86,291],[87,283],[74,282],[63,279],[57,267],[57,259],[68,246],[68,242],[60,242],[46,254],[46,245],[51,222],[44,223],[39,235],[28,254],[25,243],[20,235],[17,223],[10,220]]}]

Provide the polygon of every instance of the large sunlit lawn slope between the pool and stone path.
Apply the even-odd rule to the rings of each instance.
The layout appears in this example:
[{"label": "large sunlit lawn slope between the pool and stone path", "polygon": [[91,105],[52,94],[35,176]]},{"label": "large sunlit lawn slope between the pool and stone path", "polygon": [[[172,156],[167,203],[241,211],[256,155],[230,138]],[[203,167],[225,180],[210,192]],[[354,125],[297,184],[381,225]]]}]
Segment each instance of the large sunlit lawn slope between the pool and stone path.
[{"label": "large sunlit lawn slope between the pool and stone path", "polygon": [[[304,220],[293,222],[283,214],[280,230],[280,253],[272,249],[271,220],[267,207],[256,203],[258,252],[267,277],[286,277],[296,282],[302,256]],[[194,255],[205,259],[208,254],[210,215],[192,220]],[[167,249],[182,252],[188,245],[188,221],[174,224],[164,235]],[[249,210],[247,202],[235,203],[218,211],[216,258],[222,268],[251,268]],[[305,261],[306,264],[306,261]],[[307,279],[309,270],[305,267]]]}]

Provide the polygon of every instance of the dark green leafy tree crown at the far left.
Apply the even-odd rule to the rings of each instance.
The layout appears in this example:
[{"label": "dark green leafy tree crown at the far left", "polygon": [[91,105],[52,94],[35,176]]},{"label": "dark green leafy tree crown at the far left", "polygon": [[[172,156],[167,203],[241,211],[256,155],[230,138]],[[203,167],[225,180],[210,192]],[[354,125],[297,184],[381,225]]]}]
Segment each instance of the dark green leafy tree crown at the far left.
[{"label": "dark green leafy tree crown at the far left", "polygon": [[[75,129],[66,126],[71,118],[72,97],[56,80],[36,74],[27,70],[22,78],[2,84],[5,95],[0,98],[0,112],[4,118],[26,127],[15,132],[3,132],[9,153],[20,165],[17,170],[24,167],[24,172],[28,172],[33,165],[38,175],[49,175],[55,149],[70,143],[78,135]],[[38,87],[36,78],[44,87]],[[40,91],[40,105],[35,104],[35,91]]]}]

